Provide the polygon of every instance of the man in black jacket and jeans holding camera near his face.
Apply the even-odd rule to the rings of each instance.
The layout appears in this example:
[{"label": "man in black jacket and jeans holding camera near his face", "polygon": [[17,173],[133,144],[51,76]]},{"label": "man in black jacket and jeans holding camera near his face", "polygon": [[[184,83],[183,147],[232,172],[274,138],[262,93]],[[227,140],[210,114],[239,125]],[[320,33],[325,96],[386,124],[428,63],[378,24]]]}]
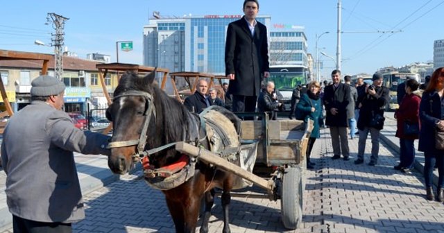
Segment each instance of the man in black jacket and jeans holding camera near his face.
[{"label": "man in black jacket and jeans holding camera near his face", "polygon": [[384,110],[388,104],[388,88],[382,86],[383,76],[377,72],[373,74],[373,84],[366,85],[366,95],[359,103],[359,141],[358,158],[355,164],[364,163],[364,150],[366,149],[366,140],[368,132],[372,138],[372,153],[369,166],[377,164],[379,153],[379,132],[384,127]]}]

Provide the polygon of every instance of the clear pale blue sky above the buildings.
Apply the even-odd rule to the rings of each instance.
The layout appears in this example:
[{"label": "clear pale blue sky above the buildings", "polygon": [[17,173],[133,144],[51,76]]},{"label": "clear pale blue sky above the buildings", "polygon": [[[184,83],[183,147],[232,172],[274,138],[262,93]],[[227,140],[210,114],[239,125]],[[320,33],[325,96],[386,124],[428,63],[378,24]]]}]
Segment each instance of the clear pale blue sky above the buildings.
[{"label": "clear pale blue sky above the buildings", "polygon": [[[119,51],[119,62],[142,64],[143,28],[153,11],[162,17],[183,15],[243,15],[243,0],[77,0],[5,1],[0,14],[0,49],[53,53],[48,12],[69,18],[65,46],[86,58],[87,53],[111,55],[116,42],[133,41],[133,51]],[[434,40],[444,39],[443,0],[342,0],[341,55],[343,74],[373,74],[387,66],[433,60]],[[271,25],[303,26],[308,52],[315,53],[316,39],[321,74],[330,76],[336,63],[338,0],[259,0],[259,15],[270,15]],[[271,28],[269,28],[271,29]],[[330,32],[321,35],[324,32]]]}]

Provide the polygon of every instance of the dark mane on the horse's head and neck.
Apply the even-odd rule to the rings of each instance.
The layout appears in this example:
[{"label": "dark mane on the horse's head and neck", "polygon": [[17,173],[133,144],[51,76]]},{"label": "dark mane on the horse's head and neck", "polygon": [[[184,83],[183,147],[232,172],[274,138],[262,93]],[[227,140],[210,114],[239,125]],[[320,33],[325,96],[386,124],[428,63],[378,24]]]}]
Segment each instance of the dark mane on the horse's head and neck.
[{"label": "dark mane on the horse's head and neck", "polygon": [[[150,78],[148,76],[152,75]],[[119,85],[114,91],[114,96],[122,92],[135,90],[148,92],[153,96],[155,105],[155,131],[157,134],[148,137],[148,146],[157,147],[175,141],[182,141],[183,126],[189,125],[189,112],[176,98],[168,96],[154,82],[154,75],[141,78],[133,72],[127,72],[121,76]]]}]

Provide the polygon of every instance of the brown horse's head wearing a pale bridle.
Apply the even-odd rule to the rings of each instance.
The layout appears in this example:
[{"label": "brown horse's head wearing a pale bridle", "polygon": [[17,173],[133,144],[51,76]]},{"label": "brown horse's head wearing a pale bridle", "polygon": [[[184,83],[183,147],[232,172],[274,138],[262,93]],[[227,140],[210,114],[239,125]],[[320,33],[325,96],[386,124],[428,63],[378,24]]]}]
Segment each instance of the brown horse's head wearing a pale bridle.
[{"label": "brown horse's head wearing a pale bridle", "polygon": [[155,71],[144,78],[126,73],[114,91],[112,104],[106,111],[113,124],[108,166],[114,173],[127,173],[135,155],[144,150],[148,127],[155,121],[154,78]]}]

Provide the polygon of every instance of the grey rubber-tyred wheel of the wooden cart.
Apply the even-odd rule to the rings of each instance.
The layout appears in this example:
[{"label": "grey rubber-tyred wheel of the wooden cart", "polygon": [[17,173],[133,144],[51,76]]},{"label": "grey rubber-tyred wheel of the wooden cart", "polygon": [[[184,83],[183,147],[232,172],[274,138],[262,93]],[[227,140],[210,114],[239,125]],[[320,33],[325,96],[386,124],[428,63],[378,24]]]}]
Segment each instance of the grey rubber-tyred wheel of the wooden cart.
[{"label": "grey rubber-tyred wheel of the wooden cart", "polygon": [[302,173],[299,167],[285,169],[280,187],[282,223],[287,229],[296,229],[302,222]]}]

